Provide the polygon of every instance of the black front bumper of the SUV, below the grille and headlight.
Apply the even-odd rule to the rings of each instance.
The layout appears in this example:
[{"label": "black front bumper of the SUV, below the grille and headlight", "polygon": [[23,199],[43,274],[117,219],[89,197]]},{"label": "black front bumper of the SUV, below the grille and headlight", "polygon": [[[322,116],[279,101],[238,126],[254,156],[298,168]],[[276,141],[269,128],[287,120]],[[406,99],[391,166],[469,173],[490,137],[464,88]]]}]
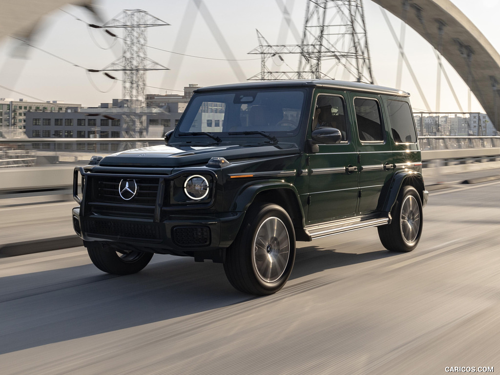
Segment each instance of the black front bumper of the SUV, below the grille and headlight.
[{"label": "black front bumper of the SUV, below the grille and headlight", "polygon": [[124,243],[158,253],[185,254],[228,247],[243,220],[244,212],[209,216],[171,214],[165,220],[80,214],[72,210],[73,228],[84,241]]}]

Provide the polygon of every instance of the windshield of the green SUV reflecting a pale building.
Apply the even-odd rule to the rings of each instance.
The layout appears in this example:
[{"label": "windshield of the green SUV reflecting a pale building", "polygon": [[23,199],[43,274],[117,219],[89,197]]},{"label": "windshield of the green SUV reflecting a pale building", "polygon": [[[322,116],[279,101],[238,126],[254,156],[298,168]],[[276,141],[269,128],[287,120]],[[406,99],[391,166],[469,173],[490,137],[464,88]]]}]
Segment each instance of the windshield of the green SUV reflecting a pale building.
[{"label": "windshield of the green SUV reflecting a pale building", "polygon": [[291,136],[298,130],[305,90],[266,89],[223,91],[193,96],[181,121],[178,135],[252,137]]}]

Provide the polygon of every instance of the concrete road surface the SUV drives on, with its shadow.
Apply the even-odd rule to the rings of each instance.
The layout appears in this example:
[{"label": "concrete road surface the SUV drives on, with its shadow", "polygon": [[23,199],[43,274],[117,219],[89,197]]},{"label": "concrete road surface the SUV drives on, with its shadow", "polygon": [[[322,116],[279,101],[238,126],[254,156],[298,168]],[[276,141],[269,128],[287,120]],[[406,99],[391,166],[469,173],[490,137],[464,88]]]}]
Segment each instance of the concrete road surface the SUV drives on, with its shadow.
[{"label": "concrete road surface the SUV drives on, with its shadow", "polygon": [[288,283],[259,298],[190,258],[155,255],[130,276],[83,247],[1,258],[0,373],[500,372],[499,193],[432,191],[410,253],[376,229],[299,242]]}]

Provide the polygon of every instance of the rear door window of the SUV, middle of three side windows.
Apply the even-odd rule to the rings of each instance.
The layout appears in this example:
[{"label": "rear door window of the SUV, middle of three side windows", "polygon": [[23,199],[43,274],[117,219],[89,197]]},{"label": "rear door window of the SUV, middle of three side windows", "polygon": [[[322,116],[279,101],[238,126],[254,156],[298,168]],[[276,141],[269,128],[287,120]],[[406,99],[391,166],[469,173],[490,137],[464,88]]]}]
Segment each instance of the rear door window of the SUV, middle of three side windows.
[{"label": "rear door window of the SUV, middle of three side windows", "polygon": [[356,97],[354,99],[357,132],[362,142],[383,142],[382,120],[378,101]]}]

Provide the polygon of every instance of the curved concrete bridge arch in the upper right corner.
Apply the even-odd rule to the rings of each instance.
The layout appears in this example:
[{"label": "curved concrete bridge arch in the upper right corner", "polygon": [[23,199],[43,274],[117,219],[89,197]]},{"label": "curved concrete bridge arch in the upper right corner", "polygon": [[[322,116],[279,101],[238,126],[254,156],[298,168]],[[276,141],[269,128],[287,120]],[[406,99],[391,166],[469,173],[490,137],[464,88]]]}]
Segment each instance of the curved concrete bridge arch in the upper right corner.
[{"label": "curved concrete bridge arch in the upper right corner", "polygon": [[372,0],[429,42],[469,86],[495,128],[500,54],[450,0]]}]

